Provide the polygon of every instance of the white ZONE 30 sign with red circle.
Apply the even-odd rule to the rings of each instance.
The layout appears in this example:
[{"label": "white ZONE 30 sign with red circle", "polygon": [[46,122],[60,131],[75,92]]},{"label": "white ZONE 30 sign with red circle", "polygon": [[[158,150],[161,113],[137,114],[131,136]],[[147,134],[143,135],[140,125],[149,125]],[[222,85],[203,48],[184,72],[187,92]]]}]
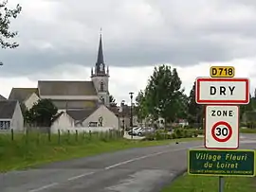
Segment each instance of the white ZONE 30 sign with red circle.
[{"label": "white ZONE 30 sign with red circle", "polygon": [[239,107],[206,106],[205,147],[235,149],[239,146]]}]

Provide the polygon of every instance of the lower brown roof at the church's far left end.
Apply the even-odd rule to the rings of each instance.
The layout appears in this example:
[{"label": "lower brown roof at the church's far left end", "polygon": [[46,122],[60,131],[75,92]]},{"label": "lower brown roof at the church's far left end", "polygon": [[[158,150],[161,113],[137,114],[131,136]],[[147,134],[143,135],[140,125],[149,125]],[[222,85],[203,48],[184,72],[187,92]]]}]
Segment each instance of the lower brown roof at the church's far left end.
[{"label": "lower brown roof at the church's far left end", "polygon": [[12,88],[9,94],[9,99],[23,102],[28,98],[28,96],[31,96],[33,93],[38,95],[37,88]]}]

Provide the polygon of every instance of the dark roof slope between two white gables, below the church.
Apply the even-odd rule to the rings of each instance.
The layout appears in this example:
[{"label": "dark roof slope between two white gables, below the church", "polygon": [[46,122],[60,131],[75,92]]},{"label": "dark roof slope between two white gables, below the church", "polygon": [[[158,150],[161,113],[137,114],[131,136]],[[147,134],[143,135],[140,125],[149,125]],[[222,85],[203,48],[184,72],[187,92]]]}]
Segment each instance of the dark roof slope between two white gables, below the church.
[{"label": "dark roof slope between two white gables, below the church", "polygon": [[71,116],[74,120],[84,120],[86,119],[89,115],[94,113],[98,107],[96,108],[87,108],[87,109],[82,109],[82,110],[67,110],[66,113]]}]

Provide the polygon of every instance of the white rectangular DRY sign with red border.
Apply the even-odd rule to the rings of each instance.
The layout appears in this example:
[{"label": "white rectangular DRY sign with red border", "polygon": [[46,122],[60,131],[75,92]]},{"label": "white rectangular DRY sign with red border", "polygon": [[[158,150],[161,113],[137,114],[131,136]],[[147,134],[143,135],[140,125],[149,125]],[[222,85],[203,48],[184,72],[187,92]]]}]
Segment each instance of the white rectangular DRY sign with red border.
[{"label": "white rectangular DRY sign with red border", "polygon": [[197,78],[195,101],[198,104],[247,104],[249,80]]}]

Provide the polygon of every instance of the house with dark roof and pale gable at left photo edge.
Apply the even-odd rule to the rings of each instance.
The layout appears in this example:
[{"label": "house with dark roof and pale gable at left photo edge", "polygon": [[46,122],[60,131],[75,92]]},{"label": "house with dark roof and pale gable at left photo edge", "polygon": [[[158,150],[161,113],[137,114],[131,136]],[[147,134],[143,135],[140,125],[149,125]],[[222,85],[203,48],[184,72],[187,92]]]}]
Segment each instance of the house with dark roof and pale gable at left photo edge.
[{"label": "house with dark roof and pale gable at left photo edge", "polygon": [[17,100],[0,100],[0,131],[24,131],[24,118]]}]

